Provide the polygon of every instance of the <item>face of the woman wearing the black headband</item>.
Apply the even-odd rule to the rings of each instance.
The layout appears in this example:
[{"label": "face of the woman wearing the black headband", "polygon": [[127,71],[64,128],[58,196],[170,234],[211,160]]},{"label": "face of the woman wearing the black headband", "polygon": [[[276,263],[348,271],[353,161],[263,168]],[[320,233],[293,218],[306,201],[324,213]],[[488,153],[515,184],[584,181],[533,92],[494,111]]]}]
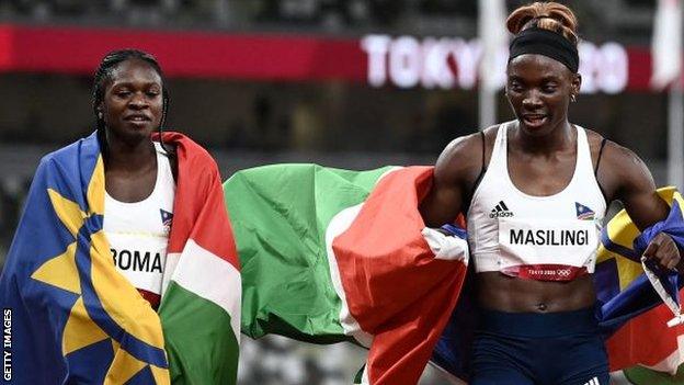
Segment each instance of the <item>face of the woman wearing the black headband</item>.
[{"label": "face of the woman wearing the black headband", "polygon": [[568,121],[570,97],[580,92],[581,77],[543,55],[521,55],[509,63],[506,94],[521,129],[543,136]]}]

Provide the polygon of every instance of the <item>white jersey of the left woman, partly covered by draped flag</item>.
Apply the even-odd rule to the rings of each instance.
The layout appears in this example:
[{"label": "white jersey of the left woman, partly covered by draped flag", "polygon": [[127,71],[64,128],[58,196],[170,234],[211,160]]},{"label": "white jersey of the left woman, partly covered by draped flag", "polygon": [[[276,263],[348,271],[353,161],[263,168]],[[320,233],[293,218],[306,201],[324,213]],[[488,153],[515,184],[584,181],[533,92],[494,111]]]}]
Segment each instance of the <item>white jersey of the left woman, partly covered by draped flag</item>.
[{"label": "white jersey of the left woman, partly covered by draped flag", "polygon": [[159,305],[161,295],[175,195],[169,158],[158,143],[155,148],[157,181],[152,193],[140,202],[126,203],[105,192],[103,224],[116,269],[152,307]]}]

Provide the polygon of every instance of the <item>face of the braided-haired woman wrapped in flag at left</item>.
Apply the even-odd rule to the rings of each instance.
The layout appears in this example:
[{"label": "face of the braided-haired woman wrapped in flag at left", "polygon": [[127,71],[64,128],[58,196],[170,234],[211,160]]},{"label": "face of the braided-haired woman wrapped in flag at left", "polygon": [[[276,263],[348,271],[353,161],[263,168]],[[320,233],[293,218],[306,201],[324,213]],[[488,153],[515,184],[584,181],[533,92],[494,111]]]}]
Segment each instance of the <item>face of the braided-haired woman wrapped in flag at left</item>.
[{"label": "face of the braided-haired woman wrapped in flag at left", "polygon": [[161,77],[152,66],[134,58],[112,70],[99,109],[109,138],[125,143],[149,139],[161,124],[162,110]]}]

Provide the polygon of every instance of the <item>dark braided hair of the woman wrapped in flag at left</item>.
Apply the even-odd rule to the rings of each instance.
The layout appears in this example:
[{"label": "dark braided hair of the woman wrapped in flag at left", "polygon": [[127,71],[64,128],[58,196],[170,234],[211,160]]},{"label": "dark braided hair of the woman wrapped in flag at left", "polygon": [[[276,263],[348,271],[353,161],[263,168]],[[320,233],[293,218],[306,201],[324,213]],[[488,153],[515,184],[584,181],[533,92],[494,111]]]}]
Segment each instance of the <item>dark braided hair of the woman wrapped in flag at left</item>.
[{"label": "dark braided hair of the woman wrapped in flag at left", "polygon": [[157,73],[159,75],[159,78],[161,78],[162,109],[161,109],[161,121],[159,122],[159,128],[158,128],[159,129],[159,143],[161,144],[161,147],[164,149],[167,154],[171,154],[164,146],[163,140],[161,138],[161,132],[163,129],[163,124],[167,120],[167,113],[169,111],[169,91],[167,90],[167,87],[164,87],[163,71],[161,70],[159,63],[152,55],[138,50],[138,49],[113,50],[106,54],[106,56],[104,56],[104,58],[100,63],[100,66],[95,70],[95,76],[93,80],[93,97],[92,97],[93,104],[92,106],[93,106],[93,112],[95,114],[95,128],[98,131],[98,140],[100,141],[100,148],[102,149],[102,154],[105,155],[106,157],[106,154],[109,151],[109,146],[106,143],[106,133],[105,133],[106,124],[104,123],[104,114],[102,112],[102,109],[100,107],[100,105],[104,101],[104,90],[105,90],[107,81],[112,80],[112,73],[114,72],[114,69],[116,69],[116,67],[123,61],[130,60],[130,59],[138,59],[138,60],[142,60],[147,63],[157,71]]}]

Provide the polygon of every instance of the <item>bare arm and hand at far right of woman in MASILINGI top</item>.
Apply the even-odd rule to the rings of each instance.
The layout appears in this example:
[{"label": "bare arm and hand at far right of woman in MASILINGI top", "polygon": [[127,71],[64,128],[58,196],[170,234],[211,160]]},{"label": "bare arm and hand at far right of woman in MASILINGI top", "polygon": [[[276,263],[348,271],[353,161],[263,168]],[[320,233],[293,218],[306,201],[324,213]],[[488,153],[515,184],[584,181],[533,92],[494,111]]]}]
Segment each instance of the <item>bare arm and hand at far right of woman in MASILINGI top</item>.
[{"label": "bare arm and hand at far right of woman in MASILINGI top", "polygon": [[[605,182],[602,186],[607,190],[607,199],[620,201],[641,231],[664,220],[670,206],[656,192],[653,177],[643,161],[632,151],[612,141],[606,144],[604,157],[605,168],[601,170],[600,182]],[[680,250],[665,233],[658,233],[642,254],[657,260],[666,269],[684,272]]]}]

